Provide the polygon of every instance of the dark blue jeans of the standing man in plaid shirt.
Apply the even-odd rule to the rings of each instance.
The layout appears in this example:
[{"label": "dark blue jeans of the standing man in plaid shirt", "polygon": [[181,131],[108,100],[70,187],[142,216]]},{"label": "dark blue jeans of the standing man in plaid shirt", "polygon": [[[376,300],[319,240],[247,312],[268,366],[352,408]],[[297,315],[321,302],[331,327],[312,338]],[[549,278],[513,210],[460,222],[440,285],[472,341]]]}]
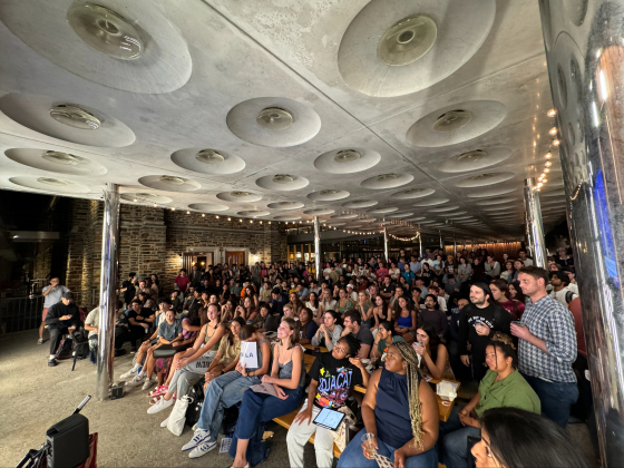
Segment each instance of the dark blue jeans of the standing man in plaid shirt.
[{"label": "dark blue jeans of the standing man in plaid shirt", "polygon": [[547,382],[524,373],[523,377],[539,397],[542,413],[565,429],[569,408],[578,400],[577,383]]}]

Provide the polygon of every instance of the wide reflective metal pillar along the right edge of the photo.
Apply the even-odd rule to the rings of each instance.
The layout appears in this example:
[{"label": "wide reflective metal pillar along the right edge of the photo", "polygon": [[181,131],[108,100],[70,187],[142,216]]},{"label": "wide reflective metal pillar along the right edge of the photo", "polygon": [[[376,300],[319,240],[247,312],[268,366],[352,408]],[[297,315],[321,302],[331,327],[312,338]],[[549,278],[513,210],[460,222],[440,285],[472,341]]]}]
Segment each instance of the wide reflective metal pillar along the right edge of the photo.
[{"label": "wide reflective metal pillar along the right edge of the photo", "polygon": [[539,10],[602,466],[611,468],[624,460],[624,0],[540,0]]}]

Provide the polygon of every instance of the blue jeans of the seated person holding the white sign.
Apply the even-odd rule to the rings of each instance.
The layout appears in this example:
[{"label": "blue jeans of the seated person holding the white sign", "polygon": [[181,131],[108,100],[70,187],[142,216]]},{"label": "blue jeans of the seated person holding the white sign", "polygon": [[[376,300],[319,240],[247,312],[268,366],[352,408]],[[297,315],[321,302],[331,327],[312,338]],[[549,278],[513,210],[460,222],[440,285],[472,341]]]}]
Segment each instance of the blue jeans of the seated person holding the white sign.
[{"label": "blue jeans of the seated person holding the white sign", "polygon": [[212,380],[206,389],[197,428],[209,430],[211,440],[215,441],[218,437],[225,408],[236,404],[243,399],[246,389],[261,382],[260,377],[243,377],[236,371],[224,373]]}]

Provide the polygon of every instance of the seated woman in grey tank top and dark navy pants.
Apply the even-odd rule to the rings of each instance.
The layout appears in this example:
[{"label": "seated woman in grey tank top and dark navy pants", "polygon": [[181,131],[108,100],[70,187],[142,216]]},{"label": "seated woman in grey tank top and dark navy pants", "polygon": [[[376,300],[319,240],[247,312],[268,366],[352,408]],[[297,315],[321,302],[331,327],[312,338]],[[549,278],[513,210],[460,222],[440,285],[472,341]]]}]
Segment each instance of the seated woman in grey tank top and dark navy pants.
[{"label": "seated woman in grey tank top and dark navy pants", "polygon": [[[230,449],[230,455],[234,456],[235,467],[247,466],[247,459],[255,466],[266,458],[265,449],[259,443],[262,439],[259,437],[252,439],[252,436],[254,433],[262,436],[259,429],[262,423],[287,415],[301,404],[305,365],[303,351],[296,345],[299,323],[292,319],[284,319],[277,328],[277,338],[280,342],[273,349],[271,376],[266,374],[262,378],[262,383],[271,387],[275,396],[250,391],[253,388],[243,394],[238,422]],[[256,459],[251,460],[252,457]]]}]

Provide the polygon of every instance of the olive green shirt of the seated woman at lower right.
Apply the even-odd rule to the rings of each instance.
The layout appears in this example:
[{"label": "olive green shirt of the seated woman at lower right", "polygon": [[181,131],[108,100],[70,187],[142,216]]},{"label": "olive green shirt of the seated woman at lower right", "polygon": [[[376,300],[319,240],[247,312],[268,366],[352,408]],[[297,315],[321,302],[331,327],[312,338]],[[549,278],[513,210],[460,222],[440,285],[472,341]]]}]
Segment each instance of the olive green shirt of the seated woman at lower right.
[{"label": "olive green shirt of the seated woman at lower right", "polygon": [[491,408],[514,407],[527,411],[542,413],[539,397],[517,370],[507,376],[500,382],[496,382],[497,373],[488,370],[486,377],[479,383],[481,399],[475,408],[480,418],[484,411]]}]

